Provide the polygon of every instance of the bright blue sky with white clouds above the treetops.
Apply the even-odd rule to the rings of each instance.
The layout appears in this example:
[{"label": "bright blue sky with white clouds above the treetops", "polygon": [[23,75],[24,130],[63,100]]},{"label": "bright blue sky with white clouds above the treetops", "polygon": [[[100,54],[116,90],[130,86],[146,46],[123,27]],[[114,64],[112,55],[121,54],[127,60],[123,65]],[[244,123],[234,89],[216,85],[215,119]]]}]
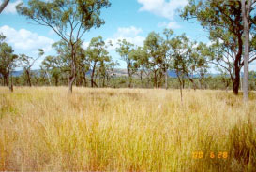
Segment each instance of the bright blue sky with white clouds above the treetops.
[{"label": "bright blue sky with white clouds above the treetops", "polygon": [[[2,0],[0,0],[1,2]],[[183,21],[177,10],[187,5],[187,0],[110,0],[112,6],[103,9],[101,13],[105,24],[99,29],[92,29],[83,36],[86,47],[92,37],[103,36],[112,40],[113,48],[109,51],[114,60],[118,60],[120,67],[126,67],[120,57],[114,52],[116,42],[120,38],[140,46],[148,33],[155,31],[161,33],[164,28],[172,28],[175,35],[186,35],[197,41],[208,42],[207,33],[203,27],[194,21]],[[60,40],[59,36],[45,26],[31,24],[23,16],[19,16],[15,6],[27,0],[10,0],[8,7],[0,15],[0,32],[7,36],[7,42],[13,47],[15,53],[25,53],[37,57],[38,49],[43,48],[46,55],[54,55],[52,44]],[[43,58],[39,59],[33,67],[39,67]]]}]

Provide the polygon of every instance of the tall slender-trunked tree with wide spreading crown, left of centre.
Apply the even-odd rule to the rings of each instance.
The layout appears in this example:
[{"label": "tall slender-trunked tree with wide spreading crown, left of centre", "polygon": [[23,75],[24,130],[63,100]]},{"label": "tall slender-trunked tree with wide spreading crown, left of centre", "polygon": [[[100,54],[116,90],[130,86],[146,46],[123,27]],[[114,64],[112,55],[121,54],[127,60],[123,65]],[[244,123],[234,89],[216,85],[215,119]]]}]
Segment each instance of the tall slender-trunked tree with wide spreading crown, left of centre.
[{"label": "tall slender-trunked tree with wide spreading crown, left of centre", "polygon": [[16,7],[19,14],[52,28],[67,43],[71,62],[69,93],[72,93],[76,79],[78,43],[85,32],[104,24],[100,19],[100,9],[110,5],[109,0],[29,0],[27,6],[22,3]]}]

